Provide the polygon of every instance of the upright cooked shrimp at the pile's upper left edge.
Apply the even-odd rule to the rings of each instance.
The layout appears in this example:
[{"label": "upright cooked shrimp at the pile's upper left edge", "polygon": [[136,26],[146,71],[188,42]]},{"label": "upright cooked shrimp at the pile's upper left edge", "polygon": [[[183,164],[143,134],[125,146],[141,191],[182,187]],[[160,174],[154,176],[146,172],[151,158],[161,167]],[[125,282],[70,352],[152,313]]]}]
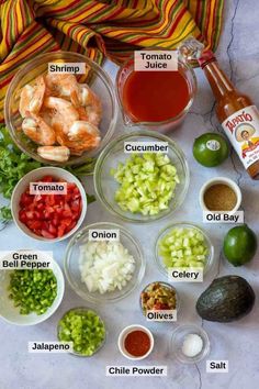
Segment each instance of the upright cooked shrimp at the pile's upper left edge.
[{"label": "upright cooked shrimp at the pile's upper left edge", "polygon": [[33,86],[25,85],[21,91],[19,103],[19,111],[23,118],[29,116],[30,113],[38,113],[44,99],[45,81],[43,76],[35,79]]}]

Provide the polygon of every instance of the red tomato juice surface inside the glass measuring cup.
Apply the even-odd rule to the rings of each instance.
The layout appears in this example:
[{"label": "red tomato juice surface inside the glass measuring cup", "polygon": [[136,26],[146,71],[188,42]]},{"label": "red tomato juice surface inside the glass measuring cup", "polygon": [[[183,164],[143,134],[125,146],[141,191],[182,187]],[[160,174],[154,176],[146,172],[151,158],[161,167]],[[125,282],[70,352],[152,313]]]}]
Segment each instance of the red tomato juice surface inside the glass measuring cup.
[{"label": "red tomato juice surface inside the glass measuring cup", "polygon": [[161,122],[176,118],[187,107],[190,92],[180,71],[132,71],[122,98],[133,121]]}]

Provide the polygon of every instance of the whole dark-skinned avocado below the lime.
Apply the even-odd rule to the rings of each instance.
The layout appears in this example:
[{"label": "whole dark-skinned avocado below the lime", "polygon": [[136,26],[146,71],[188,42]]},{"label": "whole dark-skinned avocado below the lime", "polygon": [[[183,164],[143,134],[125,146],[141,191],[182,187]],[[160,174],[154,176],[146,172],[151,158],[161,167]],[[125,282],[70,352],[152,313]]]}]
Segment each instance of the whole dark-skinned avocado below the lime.
[{"label": "whole dark-skinned avocado below the lime", "polygon": [[233,322],[251,311],[255,299],[255,292],[245,278],[224,276],[215,278],[199,297],[196,311],[211,322]]}]

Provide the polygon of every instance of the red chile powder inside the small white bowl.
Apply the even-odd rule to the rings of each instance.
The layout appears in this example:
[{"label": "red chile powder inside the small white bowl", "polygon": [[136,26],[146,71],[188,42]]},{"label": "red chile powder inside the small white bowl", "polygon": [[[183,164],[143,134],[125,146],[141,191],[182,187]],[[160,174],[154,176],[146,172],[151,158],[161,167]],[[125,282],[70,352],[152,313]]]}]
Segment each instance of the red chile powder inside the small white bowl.
[{"label": "red chile powder inside the small white bowl", "polygon": [[124,347],[127,353],[135,356],[140,357],[147,354],[150,348],[150,338],[144,331],[133,331],[127,334],[124,341]]}]

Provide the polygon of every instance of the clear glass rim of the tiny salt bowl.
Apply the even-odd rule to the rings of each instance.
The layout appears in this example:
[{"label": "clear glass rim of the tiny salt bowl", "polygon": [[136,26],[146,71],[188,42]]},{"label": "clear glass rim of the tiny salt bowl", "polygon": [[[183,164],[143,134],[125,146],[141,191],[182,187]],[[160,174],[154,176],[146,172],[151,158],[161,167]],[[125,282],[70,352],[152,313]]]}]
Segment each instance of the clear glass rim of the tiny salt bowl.
[{"label": "clear glass rim of the tiny salt bowl", "polygon": [[[201,351],[201,353],[199,353],[194,357],[184,356],[183,358],[180,358],[177,351],[174,349],[176,337],[177,337],[178,333],[180,333],[183,329],[189,330],[190,333],[191,332],[194,332],[198,334],[201,333],[203,336],[203,340],[205,340],[205,345],[203,345],[203,349]],[[171,334],[170,351],[174,355],[174,357],[183,364],[196,364],[198,362],[205,358],[205,356],[210,352],[210,348],[211,348],[211,343],[210,343],[210,338],[209,338],[206,331],[202,326],[199,326],[196,324],[181,324],[176,330],[173,330],[173,332]]]}]

